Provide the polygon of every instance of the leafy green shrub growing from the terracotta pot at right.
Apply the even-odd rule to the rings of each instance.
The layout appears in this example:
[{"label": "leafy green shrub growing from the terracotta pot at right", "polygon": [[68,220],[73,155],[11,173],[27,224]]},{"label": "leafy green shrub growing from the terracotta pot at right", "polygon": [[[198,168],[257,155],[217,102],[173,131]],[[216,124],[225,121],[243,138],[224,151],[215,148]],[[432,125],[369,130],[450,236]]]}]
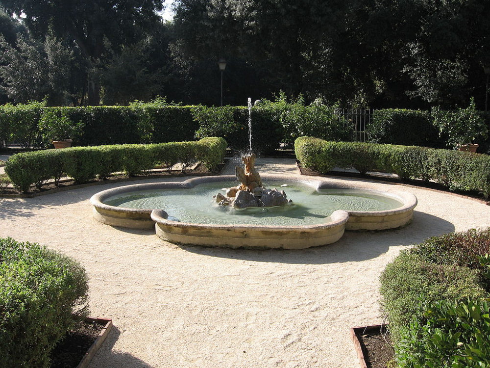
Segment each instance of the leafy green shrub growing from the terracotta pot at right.
[{"label": "leafy green shrub growing from the terracotta pot at right", "polygon": [[439,137],[446,138],[447,145],[455,149],[475,142],[478,137],[488,136],[488,127],[483,116],[476,111],[473,98],[467,108],[457,111],[442,111],[435,107],[432,116],[434,125],[439,129]]}]

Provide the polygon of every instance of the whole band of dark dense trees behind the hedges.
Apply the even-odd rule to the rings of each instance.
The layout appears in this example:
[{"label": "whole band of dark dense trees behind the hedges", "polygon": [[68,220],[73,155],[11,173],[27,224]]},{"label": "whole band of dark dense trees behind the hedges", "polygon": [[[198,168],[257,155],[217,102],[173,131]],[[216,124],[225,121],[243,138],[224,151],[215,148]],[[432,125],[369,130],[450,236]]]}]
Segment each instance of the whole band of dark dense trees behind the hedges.
[{"label": "whole band of dark dense trees behind the hedges", "polygon": [[[1,101],[485,104],[487,0],[0,0]],[[39,78],[33,79],[37,75]]]}]

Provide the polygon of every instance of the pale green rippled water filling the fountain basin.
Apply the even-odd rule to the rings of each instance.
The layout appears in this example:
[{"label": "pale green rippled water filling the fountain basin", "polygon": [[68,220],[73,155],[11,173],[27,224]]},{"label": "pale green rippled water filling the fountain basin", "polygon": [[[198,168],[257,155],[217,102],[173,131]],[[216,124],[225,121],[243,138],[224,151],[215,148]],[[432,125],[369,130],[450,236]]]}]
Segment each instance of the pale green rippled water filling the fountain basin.
[{"label": "pale green rippled water filling the fountain basin", "polygon": [[169,218],[204,224],[314,225],[330,221],[335,210],[379,211],[401,207],[392,198],[345,189],[320,189],[306,184],[263,183],[268,188],[284,189],[293,203],[282,207],[235,210],[218,206],[213,195],[222,194],[233,182],[196,185],[190,189],[141,190],[110,197],[110,206],[138,209],[162,209]]}]

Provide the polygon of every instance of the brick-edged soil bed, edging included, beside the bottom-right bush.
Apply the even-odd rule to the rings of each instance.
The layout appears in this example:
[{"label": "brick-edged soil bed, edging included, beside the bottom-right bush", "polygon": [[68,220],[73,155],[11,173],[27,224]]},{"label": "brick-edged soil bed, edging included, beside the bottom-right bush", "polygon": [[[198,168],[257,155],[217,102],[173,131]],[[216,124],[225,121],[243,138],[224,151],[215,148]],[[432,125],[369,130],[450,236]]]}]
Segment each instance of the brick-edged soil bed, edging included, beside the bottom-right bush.
[{"label": "brick-edged soil bed, edging included, beside the bottom-right bush", "polygon": [[390,333],[386,326],[353,327],[351,337],[360,360],[361,368],[389,368],[394,358]]}]

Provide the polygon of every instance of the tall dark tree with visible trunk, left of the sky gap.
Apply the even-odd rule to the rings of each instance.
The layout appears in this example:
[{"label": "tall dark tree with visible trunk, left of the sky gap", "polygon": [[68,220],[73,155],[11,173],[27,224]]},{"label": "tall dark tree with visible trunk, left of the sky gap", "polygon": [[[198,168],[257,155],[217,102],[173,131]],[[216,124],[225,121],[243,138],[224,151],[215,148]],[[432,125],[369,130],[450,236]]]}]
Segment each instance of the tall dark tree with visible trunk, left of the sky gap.
[{"label": "tall dark tree with visible trunk, left of the sky gap", "polygon": [[[107,39],[115,48],[141,37],[158,22],[161,0],[3,0],[7,11],[25,16],[37,37],[49,27],[58,37],[73,39],[86,61],[89,105],[99,104],[100,81],[94,67],[104,57]],[[92,71],[92,72],[91,72]]]}]

